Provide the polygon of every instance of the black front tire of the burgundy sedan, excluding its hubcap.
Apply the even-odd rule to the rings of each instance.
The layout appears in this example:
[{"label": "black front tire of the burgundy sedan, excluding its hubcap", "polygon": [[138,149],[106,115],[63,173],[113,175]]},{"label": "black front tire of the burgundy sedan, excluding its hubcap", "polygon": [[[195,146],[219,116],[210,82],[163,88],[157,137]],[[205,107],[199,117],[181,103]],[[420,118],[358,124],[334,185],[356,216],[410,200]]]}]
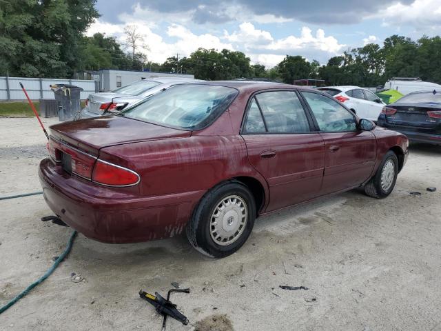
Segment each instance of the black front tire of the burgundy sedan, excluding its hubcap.
[{"label": "black front tire of the burgundy sedan, excluding its hubcap", "polygon": [[[390,186],[387,189],[384,189],[382,185],[382,172],[384,171],[387,163],[393,162],[393,180]],[[397,181],[398,175],[398,158],[396,154],[389,150],[389,152],[384,155],[380,166],[377,169],[376,174],[369,180],[369,182],[365,185],[365,193],[369,195],[369,197],[374,197],[377,199],[382,199],[391,194],[393,188],[395,187],[395,183]]]}]

